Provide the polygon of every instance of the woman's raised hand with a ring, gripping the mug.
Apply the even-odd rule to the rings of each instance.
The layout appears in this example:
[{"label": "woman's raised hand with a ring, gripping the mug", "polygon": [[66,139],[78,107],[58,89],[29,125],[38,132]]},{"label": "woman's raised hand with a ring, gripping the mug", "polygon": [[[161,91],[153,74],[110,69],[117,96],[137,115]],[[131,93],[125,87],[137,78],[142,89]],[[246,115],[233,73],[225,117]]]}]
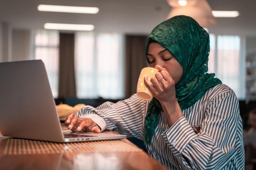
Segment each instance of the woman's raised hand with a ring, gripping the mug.
[{"label": "woman's raised hand with a ring, gripping the mug", "polygon": [[160,66],[156,66],[159,72],[150,81],[144,78],[144,83],[160,103],[176,102],[175,82],[169,72]]}]

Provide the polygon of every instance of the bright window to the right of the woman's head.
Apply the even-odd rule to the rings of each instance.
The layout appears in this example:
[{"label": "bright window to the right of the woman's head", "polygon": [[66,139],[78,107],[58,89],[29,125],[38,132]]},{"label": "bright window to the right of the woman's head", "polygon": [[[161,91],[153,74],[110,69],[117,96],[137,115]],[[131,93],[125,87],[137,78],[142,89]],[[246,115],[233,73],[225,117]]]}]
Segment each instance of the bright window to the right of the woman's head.
[{"label": "bright window to the right of the woman's head", "polygon": [[244,84],[240,74],[245,62],[241,59],[241,42],[239,36],[210,34],[211,51],[209,54],[209,72],[215,72],[223,84],[230,86],[237,98],[244,99]]}]

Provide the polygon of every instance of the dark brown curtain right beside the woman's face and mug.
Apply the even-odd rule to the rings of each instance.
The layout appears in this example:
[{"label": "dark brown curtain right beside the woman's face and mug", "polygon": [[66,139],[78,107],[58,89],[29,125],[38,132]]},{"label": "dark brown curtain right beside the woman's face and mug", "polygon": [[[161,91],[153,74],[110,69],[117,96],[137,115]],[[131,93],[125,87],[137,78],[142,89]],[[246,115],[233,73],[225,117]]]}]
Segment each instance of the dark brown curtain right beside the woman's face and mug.
[{"label": "dark brown curtain right beside the woman's face and mug", "polygon": [[136,93],[138,76],[148,67],[145,56],[147,35],[125,35],[125,97]]}]

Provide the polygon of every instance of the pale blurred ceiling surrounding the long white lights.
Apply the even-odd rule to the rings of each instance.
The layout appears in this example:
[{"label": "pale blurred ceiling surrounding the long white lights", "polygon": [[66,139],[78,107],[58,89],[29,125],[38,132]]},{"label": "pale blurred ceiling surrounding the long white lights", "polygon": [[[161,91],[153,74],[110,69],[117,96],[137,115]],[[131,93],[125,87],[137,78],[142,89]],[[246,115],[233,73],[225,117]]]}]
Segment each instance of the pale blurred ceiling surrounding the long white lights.
[{"label": "pale blurred ceiling surrounding the long white lights", "polygon": [[[256,0],[208,0],[213,10],[237,10],[236,18],[217,18],[212,33],[256,35]],[[39,12],[39,4],[94,6],[98,14]],[[0,0],[0,21],[13,28],[43,28],[45,22],[93,24],[95,31],[148,34],[165,20],[166,0]]]}]

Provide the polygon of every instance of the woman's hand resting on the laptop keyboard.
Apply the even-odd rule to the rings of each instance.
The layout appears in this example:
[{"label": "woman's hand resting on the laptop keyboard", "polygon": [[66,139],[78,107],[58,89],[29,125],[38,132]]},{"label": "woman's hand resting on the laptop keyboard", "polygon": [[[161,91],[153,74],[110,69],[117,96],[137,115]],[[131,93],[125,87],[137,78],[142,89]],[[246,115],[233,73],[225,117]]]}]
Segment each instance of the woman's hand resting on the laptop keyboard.
[{"label": "woman's hand resting on the laptop keyboard", "polygon": [[72,131],[100,133],[99,126],[90,118],[77,118],[74,113],[67,116],[65,126]]}]

